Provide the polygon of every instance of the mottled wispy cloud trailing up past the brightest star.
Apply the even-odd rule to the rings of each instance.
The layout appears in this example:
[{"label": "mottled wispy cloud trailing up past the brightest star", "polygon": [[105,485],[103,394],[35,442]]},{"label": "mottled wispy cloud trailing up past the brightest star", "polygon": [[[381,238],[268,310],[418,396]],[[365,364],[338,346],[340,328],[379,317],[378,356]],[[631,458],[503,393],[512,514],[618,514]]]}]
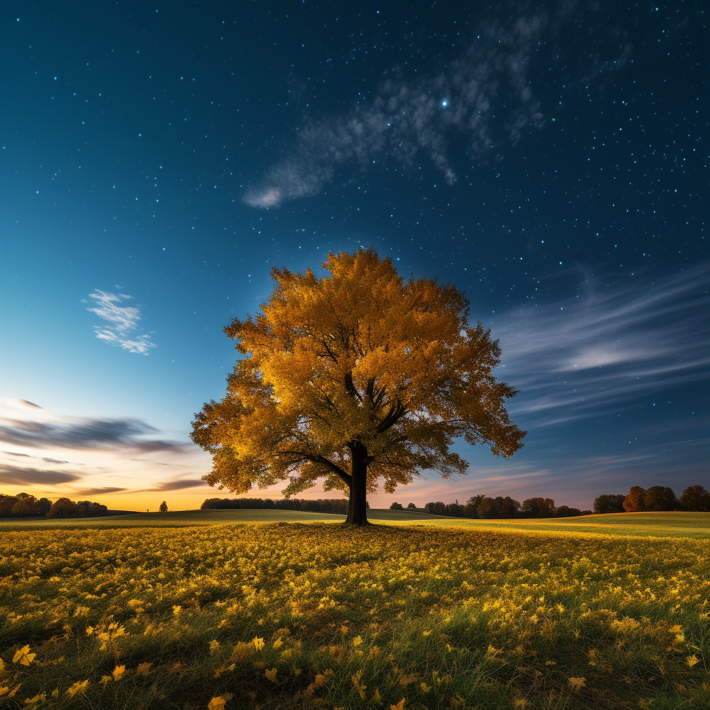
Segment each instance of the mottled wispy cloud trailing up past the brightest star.
[{"label": "mottled wispy cloud trailing up past the brightest star", "polygon": [[[268,208],[310,197],[331,182],[339,168],[362,171],[383,158],[413,168],[422,156],[428,157],[452,184],[457,175],[449,158],[450,142],[461,138],[472,160],[496,159],[501,144],[514,144],[545,124],[531,72],[535,62],[542,61],[546,70],[554,65],[567,76],[569,58],[557,53],[541,57],[564,28],[584,24],[579,16],[584,9],[571,10],[569,5],[560,4],[557,11],[523,10],[505,22],[482,22],[471,45],[444,70],[408,78],[398,70],[388,72],[374,99],[359,99],[346,114],[307,120],[290,151],[247,190],[244,202]],[[547,43],[541,44],[543,38]],[[568,85],[620,68],[631,51],[626,45],[604,60],[598,48],[599,43],[591,43],[586,75],[567,76]]]}]

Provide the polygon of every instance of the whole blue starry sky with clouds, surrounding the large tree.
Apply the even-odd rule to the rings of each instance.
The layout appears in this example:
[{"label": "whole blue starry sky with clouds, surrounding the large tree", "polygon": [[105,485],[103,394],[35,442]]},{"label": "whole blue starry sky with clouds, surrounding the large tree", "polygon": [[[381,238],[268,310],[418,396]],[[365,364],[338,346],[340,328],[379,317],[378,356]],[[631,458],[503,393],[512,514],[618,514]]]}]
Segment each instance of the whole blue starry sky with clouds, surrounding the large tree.
[{"label": "whole blue starry sky with clouds, surrounding the large tree", "polygon": [[605,5],[3,3],[2,491],[198,507],[222,327],[360,246],[465,290],[528,430],[373,507],[707,486],[706,13]]}]

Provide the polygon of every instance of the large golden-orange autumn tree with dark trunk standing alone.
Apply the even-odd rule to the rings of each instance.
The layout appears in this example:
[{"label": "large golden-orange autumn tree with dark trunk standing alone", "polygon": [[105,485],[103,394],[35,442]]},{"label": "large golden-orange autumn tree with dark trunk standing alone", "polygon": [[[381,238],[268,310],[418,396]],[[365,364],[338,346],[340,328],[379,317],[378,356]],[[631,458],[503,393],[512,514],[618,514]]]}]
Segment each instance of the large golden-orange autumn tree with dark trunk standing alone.
[{"label": "large golden-orange autumn tree with dark trunk standing alone", "polygon": [[290,496],[322,479],[349,493],[346,523],[361,525],[378,481],[389,493],[425,469],[464,474],[459,437],[506,459],[523,446],[504,406],[516,391],[491,374],[501,349],[469,324],[457,288],[405,283],[371,249],[331,253],[323,268],[273,268],[261,311],[224,328],[242,357],[192,430],[212,454],[210,485],[288,479]]}]

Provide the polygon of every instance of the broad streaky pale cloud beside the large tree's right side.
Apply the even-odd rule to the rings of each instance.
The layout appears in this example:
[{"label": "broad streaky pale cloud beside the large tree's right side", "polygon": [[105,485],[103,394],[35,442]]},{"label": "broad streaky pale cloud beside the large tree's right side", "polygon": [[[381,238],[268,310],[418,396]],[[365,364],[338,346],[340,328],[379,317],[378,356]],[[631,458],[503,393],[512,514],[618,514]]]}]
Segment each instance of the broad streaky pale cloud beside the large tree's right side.
[{"label": "broad streaky pale cloud beside the large tree's right side", "polygon": [[496,320],[510,403],[537,425],[606,414],[638,395],[710,374],[710,264],[613,285],[589,278],[574,300]]}]

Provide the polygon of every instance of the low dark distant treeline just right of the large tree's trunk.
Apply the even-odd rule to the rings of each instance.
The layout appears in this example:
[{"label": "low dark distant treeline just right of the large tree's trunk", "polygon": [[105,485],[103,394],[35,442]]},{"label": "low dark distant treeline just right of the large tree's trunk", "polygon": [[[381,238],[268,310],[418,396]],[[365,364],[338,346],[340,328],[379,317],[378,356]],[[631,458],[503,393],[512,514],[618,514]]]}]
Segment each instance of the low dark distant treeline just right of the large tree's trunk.
[{"label": "low dark distant treeline just right of the large tree's trunk", "polygon": [[[392,503],[391,510],[403,510],[400,503]],[[417,510],[414,503],[407,506],[408,510]],[[427,513],[435,515],[451,515],[454,518],[571,518],[574,515],[590,515],[591,510],[579,510],[569,506],[555,506],[552,498],[528,498],[519,503],[510,496],[472,496],[465,505],[456,503],[427,503],[424,506]]]}]

